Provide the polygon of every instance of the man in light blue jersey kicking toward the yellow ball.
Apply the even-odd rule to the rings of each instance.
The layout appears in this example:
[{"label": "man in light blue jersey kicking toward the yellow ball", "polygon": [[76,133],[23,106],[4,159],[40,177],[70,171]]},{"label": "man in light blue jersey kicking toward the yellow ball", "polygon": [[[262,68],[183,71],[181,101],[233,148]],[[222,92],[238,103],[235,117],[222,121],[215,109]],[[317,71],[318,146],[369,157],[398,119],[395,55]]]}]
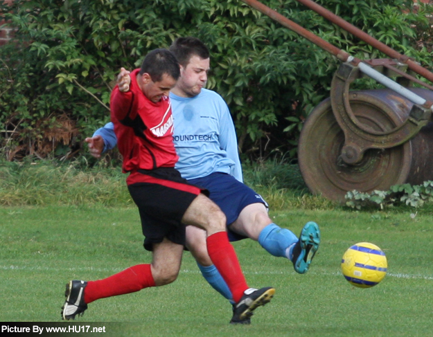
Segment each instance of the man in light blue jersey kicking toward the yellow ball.
[{"label": "man in light blue jersey kicking toward the yellow ball", "polygon": [[[242,183],[236,131],[226,102],[218,93],[204,89],[209,71],[209,51],[194,37],[181,37],[170,47],[179,61],[181,75],[170,91],[174,117],[176,169],[182,177],[210,192],[210,198],[227,217],[229,239],[249,237],[276,257],[293,263],[297,273],[306,273],[320,243],[317,224],[310,221],[299,238],[273,223],[267,203]],[[97,158],[116,145],[112,123],[86,138]],[[206,251],[206,232],[186,227],[186,246],[197,260],[204,278],[231,300],[231,293]],[[248,320],[232,323],[249,324]]]}]

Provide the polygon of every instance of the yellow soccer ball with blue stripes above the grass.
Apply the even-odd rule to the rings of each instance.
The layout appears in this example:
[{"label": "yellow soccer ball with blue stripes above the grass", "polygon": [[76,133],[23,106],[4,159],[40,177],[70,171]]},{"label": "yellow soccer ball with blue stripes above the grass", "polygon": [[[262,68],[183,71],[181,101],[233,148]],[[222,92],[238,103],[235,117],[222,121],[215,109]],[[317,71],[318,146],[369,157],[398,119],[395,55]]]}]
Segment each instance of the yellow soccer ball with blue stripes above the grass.
[{"label": "yellow soccer ball with blue stripes above the grass", "polygon": [[360,288],[375,286],[387,274],[387,257],[378,246],[360,242],[348,248],[342,259],[346,280]]}]

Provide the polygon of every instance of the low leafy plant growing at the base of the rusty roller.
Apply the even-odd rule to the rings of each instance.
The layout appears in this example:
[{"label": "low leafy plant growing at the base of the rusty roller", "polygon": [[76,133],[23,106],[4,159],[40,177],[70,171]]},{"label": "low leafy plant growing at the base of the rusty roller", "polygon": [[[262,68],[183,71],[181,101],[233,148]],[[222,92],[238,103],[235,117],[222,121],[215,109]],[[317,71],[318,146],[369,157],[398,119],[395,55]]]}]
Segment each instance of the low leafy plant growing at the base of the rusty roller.
[{"label": "low leafy plant growing at the base of the rusty roller", "polygon": [[433,181],[425,181],[422,185],[393,185],[388,191],[373,191],[371,193],[358,192],[356,190],[346,193],[346,206],[356,208],[406,205],[419,208],[424,203],[433,201]]}]

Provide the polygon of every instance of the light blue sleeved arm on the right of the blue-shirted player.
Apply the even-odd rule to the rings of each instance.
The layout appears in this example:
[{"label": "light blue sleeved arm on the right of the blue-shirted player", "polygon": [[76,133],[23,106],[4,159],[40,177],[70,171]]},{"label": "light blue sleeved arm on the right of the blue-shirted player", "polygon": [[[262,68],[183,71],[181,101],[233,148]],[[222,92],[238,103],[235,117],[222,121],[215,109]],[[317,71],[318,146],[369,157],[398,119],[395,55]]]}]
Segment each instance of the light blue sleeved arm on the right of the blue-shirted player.
[{"label": "light blue sleeved arm on the right of the blue-shirted player", "polygon": [[[221,104],[222,105],[222,104]],[[240,158],[238,152],[238,138],[236,136],[235,125],[231,118],[229,107],[224,102],[224,107],[221,108],[222,113],[220,116],[220,147],[227,152],[227,157],[230,158],[235,166],[232,170],[232,176],[236,180],[243,182],[242,178],[242,166],[240,165]]]}]

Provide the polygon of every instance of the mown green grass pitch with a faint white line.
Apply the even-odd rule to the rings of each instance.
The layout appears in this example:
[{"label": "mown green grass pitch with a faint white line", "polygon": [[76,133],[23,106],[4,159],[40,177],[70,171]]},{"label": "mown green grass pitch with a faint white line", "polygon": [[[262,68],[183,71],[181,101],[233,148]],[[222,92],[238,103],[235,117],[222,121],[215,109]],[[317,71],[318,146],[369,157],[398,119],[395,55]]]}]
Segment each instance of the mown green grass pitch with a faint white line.
[{"label": "mown green grass pitch with a faint white line", "polygon": [[[322,244],[306,275],[256,242],[234,244],[249,285],[276,288],[250,326],[228,324],[229,303],[187,252],[173,284],[98,300],[74,324],[106,325],[103,336],[432,336],[432,214],[410,212],[272,212],[295,233],[317,221]],[[150,262],[135,208],[3,207],[0,219],[2,322],[60,322],[68,280]],[[385,280],[371,289],[351,286],[340,273],[346,248],[363,241],[388,258]]]}]

